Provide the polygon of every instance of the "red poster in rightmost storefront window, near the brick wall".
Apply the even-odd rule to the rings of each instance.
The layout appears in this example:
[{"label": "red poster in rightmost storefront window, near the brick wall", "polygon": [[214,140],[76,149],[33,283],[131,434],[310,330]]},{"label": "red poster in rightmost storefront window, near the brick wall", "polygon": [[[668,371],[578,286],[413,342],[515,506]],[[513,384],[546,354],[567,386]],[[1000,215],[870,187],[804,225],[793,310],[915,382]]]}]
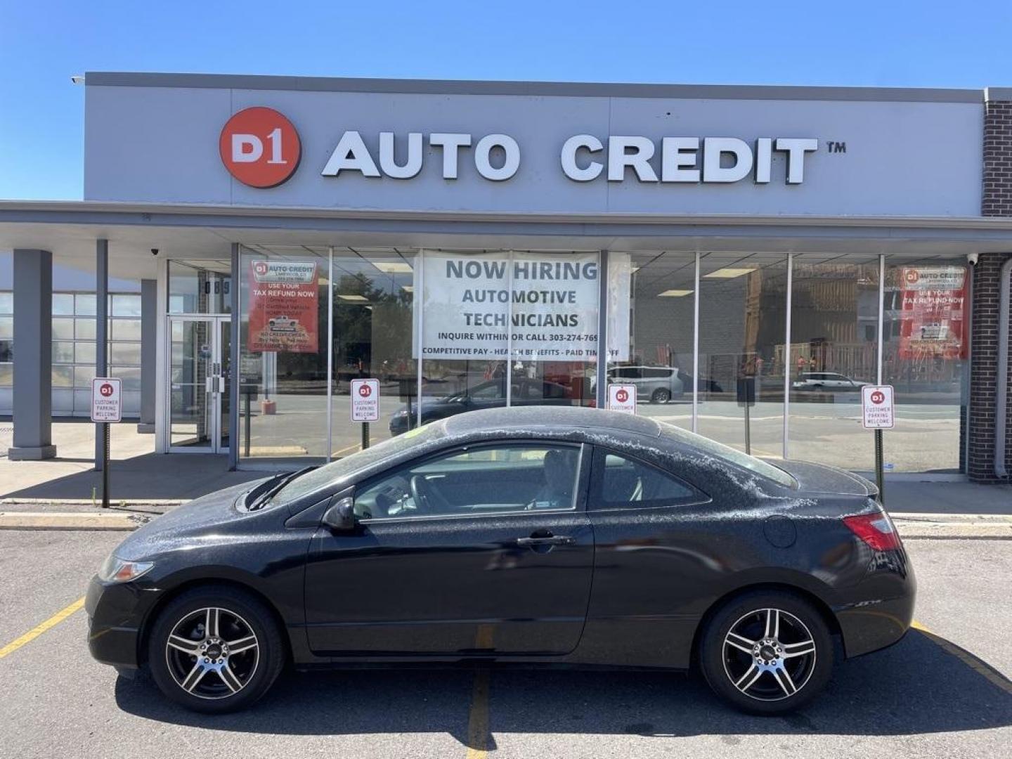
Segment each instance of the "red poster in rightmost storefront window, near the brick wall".
[{"label": "red poster in rightmost storefront window, near the brick wall", "polygon": [[965,358],[966,269],[909,266],[900,274],[900,358]]}]

